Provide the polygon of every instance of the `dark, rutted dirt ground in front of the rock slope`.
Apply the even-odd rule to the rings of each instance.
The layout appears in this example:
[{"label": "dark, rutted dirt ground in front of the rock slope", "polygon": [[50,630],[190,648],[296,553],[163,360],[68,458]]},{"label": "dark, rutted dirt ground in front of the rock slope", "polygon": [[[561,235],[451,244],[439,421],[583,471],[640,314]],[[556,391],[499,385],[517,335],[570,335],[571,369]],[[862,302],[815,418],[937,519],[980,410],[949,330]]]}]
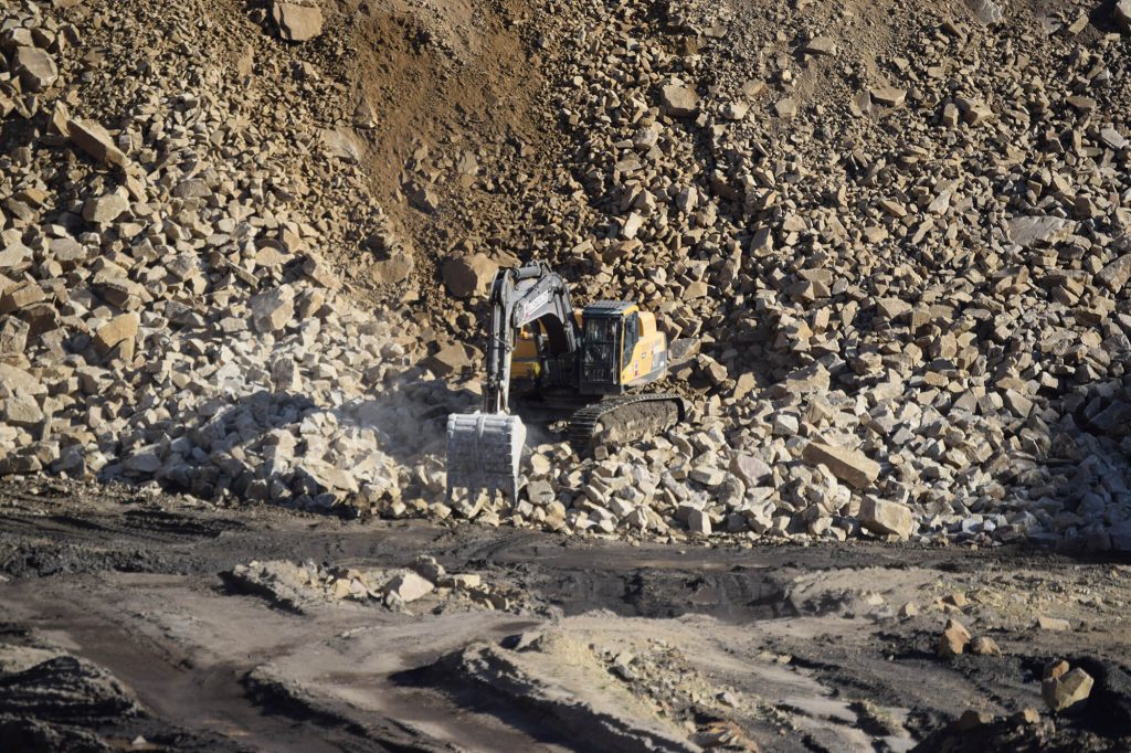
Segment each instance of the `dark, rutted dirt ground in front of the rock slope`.
[{"label": "dark, rutted dirt ground in front of the rock slope", "polygon": [[[390,607],[247,575],[421,555],[491,597]],[[6,483],[0,748],[1125,751],[1129,573],[1025,547],[677,549]],[[938,658],[948,616],[1001,656]],[[1054,717],[1041,675],[1060,658],[1096,684]]]}]

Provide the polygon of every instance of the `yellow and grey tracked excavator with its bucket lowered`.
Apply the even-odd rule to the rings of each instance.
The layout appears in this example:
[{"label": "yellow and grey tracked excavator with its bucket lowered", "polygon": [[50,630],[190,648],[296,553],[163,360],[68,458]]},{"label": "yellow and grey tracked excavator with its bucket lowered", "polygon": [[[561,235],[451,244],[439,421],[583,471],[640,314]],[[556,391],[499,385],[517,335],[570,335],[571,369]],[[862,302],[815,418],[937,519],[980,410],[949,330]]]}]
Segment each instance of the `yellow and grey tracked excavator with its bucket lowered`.
[{"label": "yellow and grey tracked excavator with its bucket lowered", "polygon": [[564,416],[585,450],[662,432],[684,421],[683,399],[640,388],[667,373],[667,337],[629,301],[575,309],[569,285],[545,261],[500,269],[491,284],[483,407],[448,416],[448,500],[497,491],[518,501],[526,425],[515,407]]}]

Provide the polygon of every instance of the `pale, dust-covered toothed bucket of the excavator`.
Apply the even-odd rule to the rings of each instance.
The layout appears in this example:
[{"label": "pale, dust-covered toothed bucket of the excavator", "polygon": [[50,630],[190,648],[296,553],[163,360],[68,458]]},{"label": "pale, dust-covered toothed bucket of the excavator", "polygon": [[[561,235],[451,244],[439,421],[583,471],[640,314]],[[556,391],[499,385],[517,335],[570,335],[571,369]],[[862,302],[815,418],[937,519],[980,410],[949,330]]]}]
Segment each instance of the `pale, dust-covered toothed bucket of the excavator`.
[{"label": "pale, dust-covered toothed bucket of the excavator", "polygon": [[452,490],[466,487],[474,500],[497,490],[518,502],[518,464],[526,444],[526,426],[504,413],[454,413],[448,416],[448,500]]}]

